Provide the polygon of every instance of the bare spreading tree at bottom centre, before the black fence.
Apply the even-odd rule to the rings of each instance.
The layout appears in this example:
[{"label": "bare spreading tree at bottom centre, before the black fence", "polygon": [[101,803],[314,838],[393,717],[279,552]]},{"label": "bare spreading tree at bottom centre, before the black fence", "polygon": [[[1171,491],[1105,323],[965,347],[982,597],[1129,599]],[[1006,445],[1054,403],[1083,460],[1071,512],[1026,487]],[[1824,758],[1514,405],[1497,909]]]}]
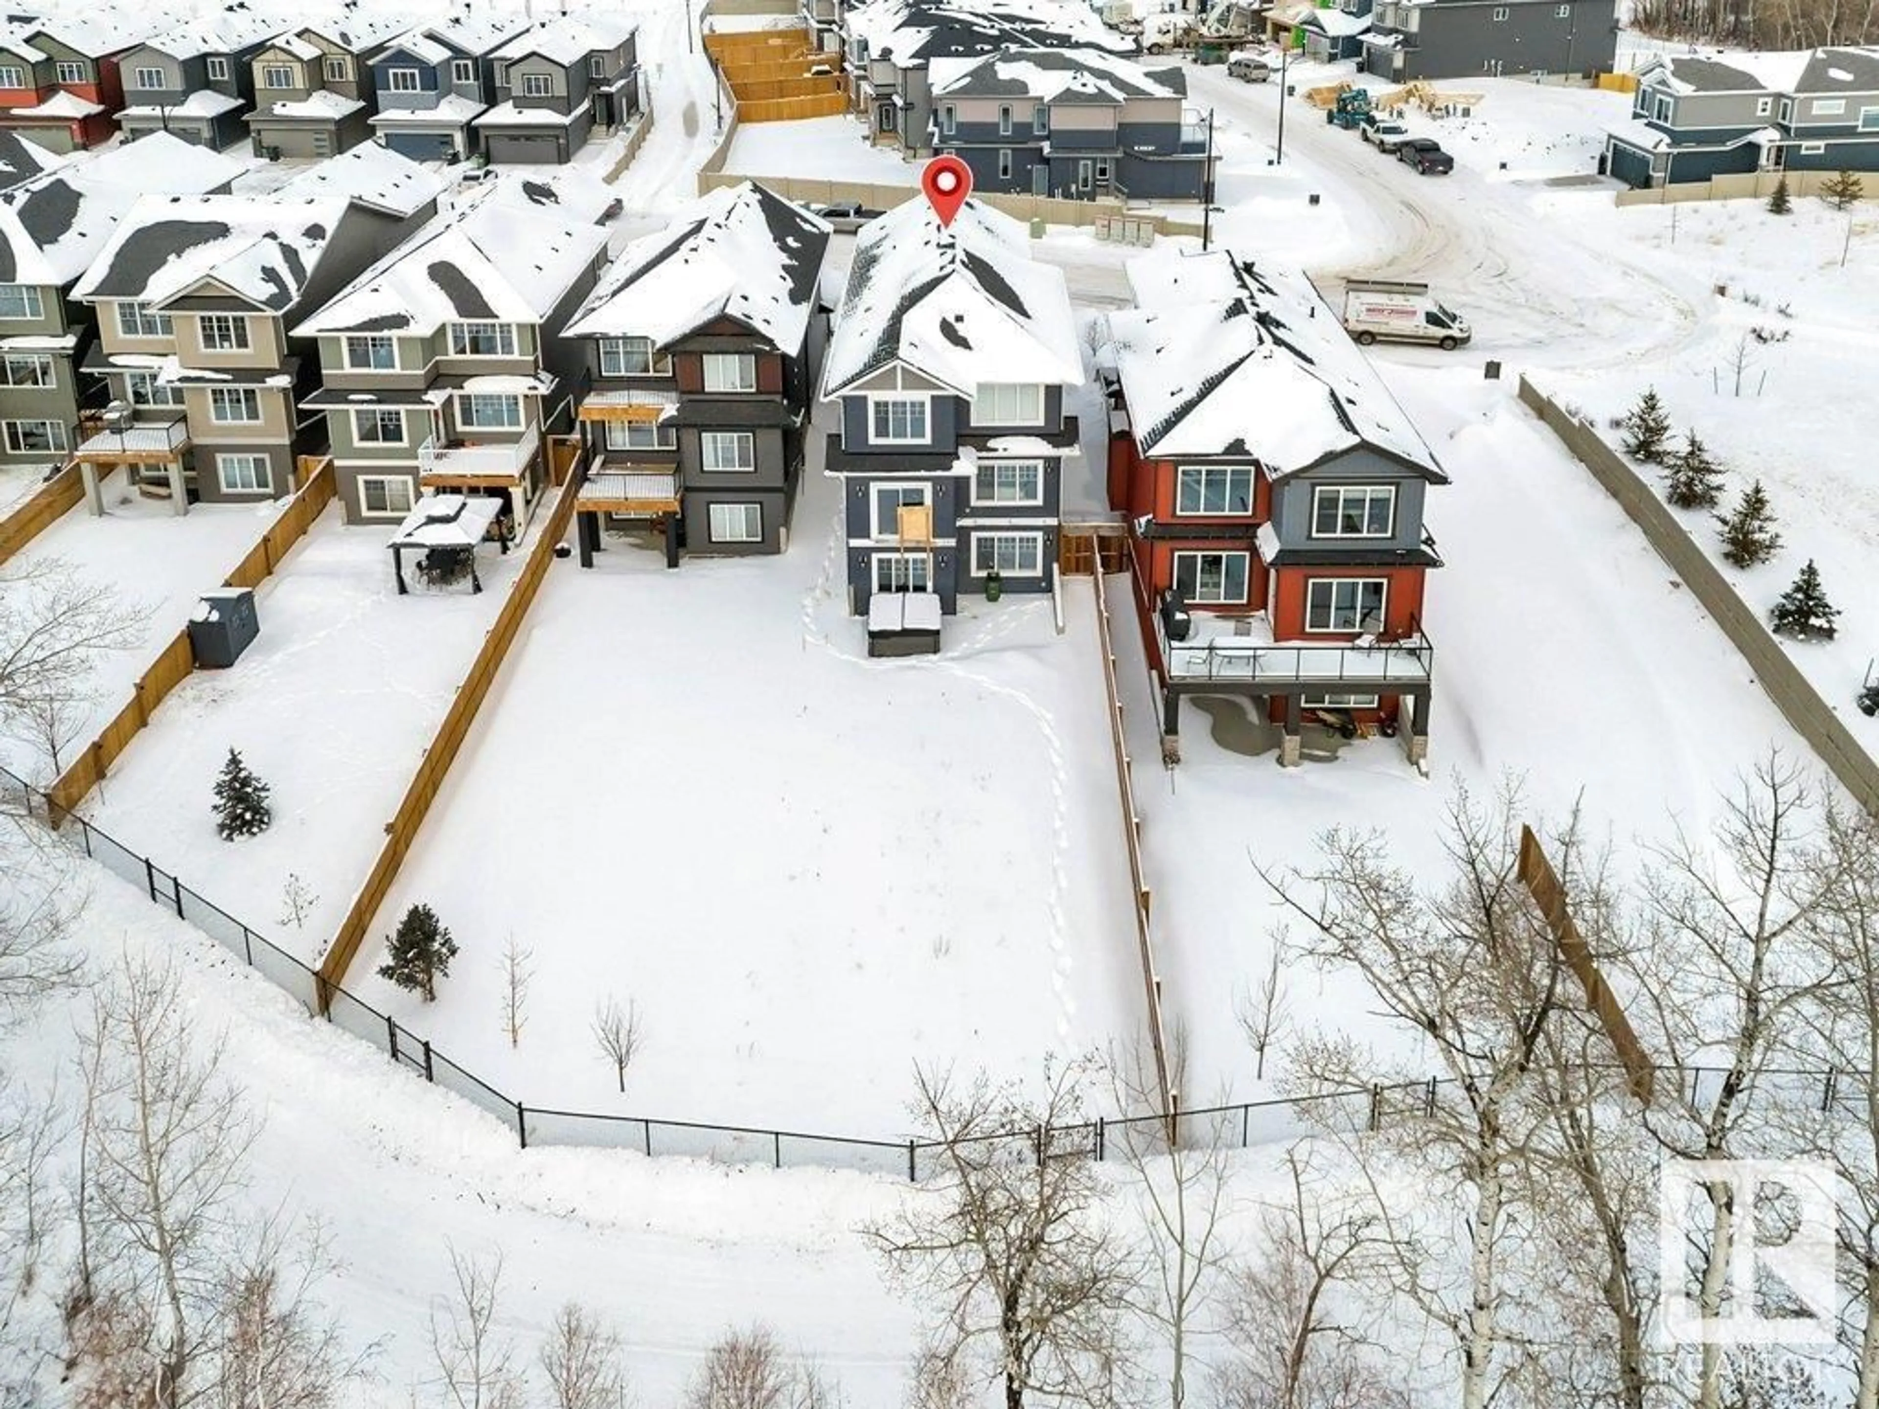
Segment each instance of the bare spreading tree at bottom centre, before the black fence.
[{"label": "bare spreading tree at bottom centre, before the black fence", "polygon": [[1047,1069],[1039,1101],[983,1073],[956,1086],[919,1071],[938,1169],[896,1217],[866,1229],[889,1276],[936,1302],[941,1355],[996,1356],[1005,1409],[1026,1394],[1105,1403],[1126,1364],[1133,1268],[1099,1217],[1084,1071]]}]

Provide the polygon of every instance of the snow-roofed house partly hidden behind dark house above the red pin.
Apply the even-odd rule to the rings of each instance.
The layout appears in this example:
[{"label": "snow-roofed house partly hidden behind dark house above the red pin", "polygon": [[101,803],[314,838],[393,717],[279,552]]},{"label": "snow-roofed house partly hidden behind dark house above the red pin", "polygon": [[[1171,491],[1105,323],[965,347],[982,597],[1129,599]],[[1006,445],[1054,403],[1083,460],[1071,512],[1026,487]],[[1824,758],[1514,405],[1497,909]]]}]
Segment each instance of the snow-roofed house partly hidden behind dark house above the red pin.
[{"label": "snow-roofed house partly hidden behind dark house above the red pin", "polygon": [[1007,49],[1097,49],[1133,53],[1135,41],[1080,6],[1002,0],[870,0],[842,6],[842,49],[849,100],[872,141],[908,156],[934,152],[928,66],[941,58],[983,58]]}]

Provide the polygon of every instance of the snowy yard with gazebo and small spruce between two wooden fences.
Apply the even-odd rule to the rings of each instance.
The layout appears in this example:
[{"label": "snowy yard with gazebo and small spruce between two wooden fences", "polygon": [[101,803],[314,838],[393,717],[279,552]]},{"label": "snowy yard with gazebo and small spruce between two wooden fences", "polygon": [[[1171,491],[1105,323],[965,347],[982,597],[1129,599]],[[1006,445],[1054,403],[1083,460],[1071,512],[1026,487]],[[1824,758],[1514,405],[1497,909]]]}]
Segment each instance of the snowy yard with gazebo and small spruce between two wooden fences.
[{"label": "snowy yard with gazebo and small spruce between two wooden fences", "polygon": [[[256,643],[231,669],[180,684],[85,806],[107,834],[306,962],[363,885],[522,562],[520,550],[483,550],[479,596],[455,586],[400,597],[387,534],[348,528],[331,505],[256,592]],[[267,832],[233,844],[209,812],[229,748],[272,787],[274,808]],[[289,872],[318,896],[303,926],[282,922]]]}]

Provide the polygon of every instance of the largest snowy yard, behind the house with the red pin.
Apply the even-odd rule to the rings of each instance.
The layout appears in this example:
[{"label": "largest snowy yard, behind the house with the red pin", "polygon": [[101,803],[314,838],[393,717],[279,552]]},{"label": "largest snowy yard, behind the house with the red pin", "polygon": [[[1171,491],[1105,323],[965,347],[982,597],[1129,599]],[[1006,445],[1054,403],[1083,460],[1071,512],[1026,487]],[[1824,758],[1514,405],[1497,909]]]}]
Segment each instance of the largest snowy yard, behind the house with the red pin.
[{"label": "largest snowy yard, behind the house with the red pin", "polygon": [[[530,1105],[855,1137],[908,1127],[915,1061],[1026,1075],[1127,1041],[1088,590],[1064,637],[1007,597],[936,659],[870,661],[834,505],[812,473],[782,558],[554,564],[348,986]],[[413,902],[462,951],[434,1007],[374,975]],[[588,1031],[609,994],[646,1031],[624,1097]]]}]

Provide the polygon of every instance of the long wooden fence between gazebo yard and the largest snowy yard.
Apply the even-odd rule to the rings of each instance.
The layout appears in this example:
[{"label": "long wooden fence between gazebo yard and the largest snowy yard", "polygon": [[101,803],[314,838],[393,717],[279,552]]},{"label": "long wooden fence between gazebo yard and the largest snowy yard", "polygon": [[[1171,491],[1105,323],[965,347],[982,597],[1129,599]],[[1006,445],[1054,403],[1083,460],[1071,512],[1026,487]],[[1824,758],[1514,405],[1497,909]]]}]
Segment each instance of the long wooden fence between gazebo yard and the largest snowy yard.
[{"label": "long wooden fence between gazebo yard and the largest snowy yard", "polygon": [[483,637],[483,646],[470,665],[470,674],[457,686],[457,697],[451,701],[443,723],[438,725],[436,736],[425,750],[423,763],[417,765],[412,785],[404,789],[398,812],[385,823],[385,845],[380,847],[378,860],[372,862],[365,887],[353,896],[351,909],[340,921],[338,934],[333,936],[333,943],[327,945],[327,956],[319,964],[321,1013],[327,1013],[331,1007],[333,992],[344,986],[346,969],[351,968],[353,956],[365,941],[366,926],[372,924],[378,907],[385,904],[385,892],[391,890],[391,883],[398,879],[398,868],[404,864],[406,855],[410,855],[412,844],[417,840],[417,830],[425,825],[425,815],[430,812],[438,789],[443,787],[443,778],[449,774],[457,751],[470,735],[470,725],[475,723],[475,714],[489,695],[490,684],[496,680],[496,671],[502,669],[502,661],[509,654],[517,631],[522,629],[522,618],[528,616],[528,609],[541,590],[541,579],[547,577],[549,564],[554,562],[554,545],[567,534],[579,483],[581,473],[575,470],[571,483],[560,492],[560,498],[549,511],[549,520],[541,535],[528,550],[528,562],[522,564],[522,571],[517,575],[507,601],[496,612],[494,626]]}]

